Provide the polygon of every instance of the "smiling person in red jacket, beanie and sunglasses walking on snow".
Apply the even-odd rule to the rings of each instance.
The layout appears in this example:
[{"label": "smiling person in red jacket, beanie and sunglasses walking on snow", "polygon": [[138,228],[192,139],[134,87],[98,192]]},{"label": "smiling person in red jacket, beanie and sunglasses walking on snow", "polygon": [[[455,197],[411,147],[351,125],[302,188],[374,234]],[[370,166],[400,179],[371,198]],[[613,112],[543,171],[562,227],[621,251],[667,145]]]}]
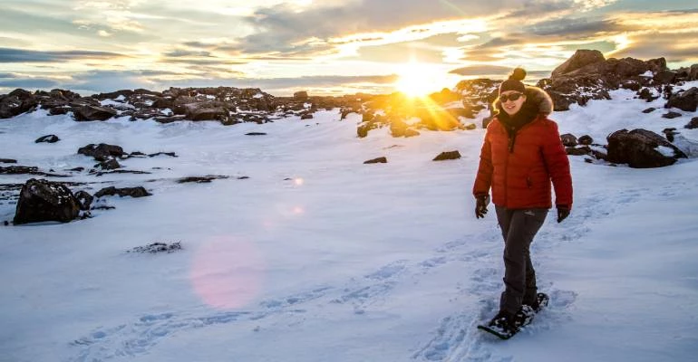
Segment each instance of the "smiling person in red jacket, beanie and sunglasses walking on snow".
[{"label": "smiling person in red jacket, beanie and sunglasses walking on snow", "polygon": [[515,69],[499,85],[495,109],[480,151],[472,187],[475,216],[485,217],[492,202],[504,237],[505,291],[489,326],[516,333],[523,319],[538,311],[536,272],[529,247],[552,207],[555,188],[557,223],[572,208],[572,176],[557,123],[548,119],[553,102],[544,90],[524,85],[526,71]]}]

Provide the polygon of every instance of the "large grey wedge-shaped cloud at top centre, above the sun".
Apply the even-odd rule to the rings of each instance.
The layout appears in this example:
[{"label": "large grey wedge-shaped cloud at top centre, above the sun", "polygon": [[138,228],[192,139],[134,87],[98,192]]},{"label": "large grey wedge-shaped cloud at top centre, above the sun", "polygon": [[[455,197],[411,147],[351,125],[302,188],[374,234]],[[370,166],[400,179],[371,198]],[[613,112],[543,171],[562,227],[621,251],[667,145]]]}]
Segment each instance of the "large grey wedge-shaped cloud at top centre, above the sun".
[{"label": "large grey wedge-shaped cloud at top centre, above the sun", "polygon": [[[538,3],[531,2],[528,3]],[[394,0],[358,1],[343,5],[314,6],[298,11],[289,5],[263,8],[245,18],[257,33],[240,39],[243,52],[291,52],[309,54],[332,48],[323,43],[302,44],[308,38],[329,39],[353,33],[391,32],[414,24],[474,18],[501,9],[525,8],[520,1],[491,0]],[[415,32],[425,30],[416,29]],[[300,45],[299,45],[300,43]]]}]

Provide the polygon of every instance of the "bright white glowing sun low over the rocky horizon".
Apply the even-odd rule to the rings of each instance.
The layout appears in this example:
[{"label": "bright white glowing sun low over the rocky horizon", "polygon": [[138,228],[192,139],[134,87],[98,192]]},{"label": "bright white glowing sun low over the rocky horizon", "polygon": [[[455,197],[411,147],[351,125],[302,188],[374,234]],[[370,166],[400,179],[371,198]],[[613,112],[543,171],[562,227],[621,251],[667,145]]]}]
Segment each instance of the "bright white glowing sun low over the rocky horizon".
[{"label": "bright white glowing sun low over the rocky horizon", "polygon": [[441,90],[440,75],[428,64],[404,63],[400,66],[397,75],[398,79],[393,83],[393,87],[408,97],[423,97],[433,91]]}]

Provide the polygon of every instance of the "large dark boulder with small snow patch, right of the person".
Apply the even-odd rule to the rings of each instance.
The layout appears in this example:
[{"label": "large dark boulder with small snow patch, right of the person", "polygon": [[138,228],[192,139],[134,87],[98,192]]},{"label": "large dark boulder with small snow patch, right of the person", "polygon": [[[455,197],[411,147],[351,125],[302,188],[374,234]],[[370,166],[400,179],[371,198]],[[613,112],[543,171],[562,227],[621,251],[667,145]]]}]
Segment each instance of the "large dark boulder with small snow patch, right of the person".
[{"label": "large dark boulder with small snow patch, right of the person", "polygon": [[607,140],[606,160],[634,168],[670,166],[677,158],[686,157],[662,136],[646,129],[617,130]]}]

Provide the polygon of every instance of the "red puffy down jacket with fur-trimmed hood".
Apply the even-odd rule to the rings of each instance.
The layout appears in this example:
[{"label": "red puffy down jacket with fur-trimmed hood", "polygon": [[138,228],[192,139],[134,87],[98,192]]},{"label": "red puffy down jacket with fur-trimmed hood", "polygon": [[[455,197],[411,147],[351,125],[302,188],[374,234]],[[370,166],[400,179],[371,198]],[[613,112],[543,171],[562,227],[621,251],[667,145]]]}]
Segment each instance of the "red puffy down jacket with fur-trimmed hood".
[{"label": "red puffy down jacket with fur-trimmed hood", "polygon": [[[527,87],[527,98],[535,87]],[[543,90],[539,90],[543,92]],[[545,94],[546,101],[549,100]],[[528,101],[528,100],[527,100]],[[490,122],[480,151],[480,167],[473,195],[488,195],[492,188],[494,205],[509,209],[550,208],[551,187],[555,187],[555,205],[572,207],[572,176],[562,146],[557,123],[548,119],[548,104],[541,104],[538,117],[516,134],[516,145],[509,151],[509,133],[501,121]],[[550,100],[549,110],[552,110]]]}]

